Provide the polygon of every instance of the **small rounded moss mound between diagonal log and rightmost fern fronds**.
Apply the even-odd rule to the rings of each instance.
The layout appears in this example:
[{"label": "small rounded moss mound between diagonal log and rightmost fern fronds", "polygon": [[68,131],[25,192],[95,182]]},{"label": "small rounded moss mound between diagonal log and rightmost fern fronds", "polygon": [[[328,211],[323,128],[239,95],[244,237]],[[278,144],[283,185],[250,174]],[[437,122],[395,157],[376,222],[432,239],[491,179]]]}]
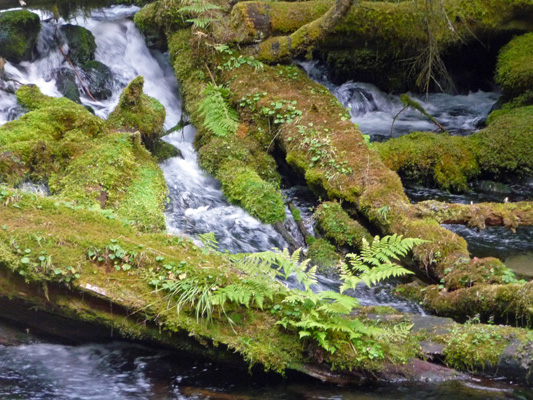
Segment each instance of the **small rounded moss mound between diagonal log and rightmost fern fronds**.
[{"label": "small rounded moss mound between diagonal log and rightmost fern fronds", "polygon": [[322,203],[315,211],[317,229],[337,246],[360,248],[362,240],[372,240],[368,231],[342,209],[340,203]]}]

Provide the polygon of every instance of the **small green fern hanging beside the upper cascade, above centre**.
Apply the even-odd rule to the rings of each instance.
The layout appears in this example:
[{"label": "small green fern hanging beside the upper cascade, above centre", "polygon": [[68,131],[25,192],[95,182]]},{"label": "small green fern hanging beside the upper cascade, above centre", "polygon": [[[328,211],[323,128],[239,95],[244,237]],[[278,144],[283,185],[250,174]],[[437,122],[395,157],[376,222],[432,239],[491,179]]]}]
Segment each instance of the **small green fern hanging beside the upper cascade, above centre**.
[{"label": "small green fern hanging beside the upper cascade, above centre", "polygon": [[234,135],[239,127],[239,116],[226,101],[229,91],[210,83],[202,94],[205,97],[199,110],[200,115],[204,117],[205,126],[219,137]]}]

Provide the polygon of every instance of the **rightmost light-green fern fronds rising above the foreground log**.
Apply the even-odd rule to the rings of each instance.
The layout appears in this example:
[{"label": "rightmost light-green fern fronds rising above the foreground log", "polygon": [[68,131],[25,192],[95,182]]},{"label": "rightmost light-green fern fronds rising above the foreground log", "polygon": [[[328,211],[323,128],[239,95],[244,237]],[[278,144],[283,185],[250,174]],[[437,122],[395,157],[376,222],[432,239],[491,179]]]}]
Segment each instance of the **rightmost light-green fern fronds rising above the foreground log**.
[{"label": "rightmost light-green fern fronds rising above the foreground log", "polygon": [[405,257],[414,246],[425,242],[422,239],[403,238],[401,235],[381,239],[376,236],[371,244],[363,239],[361,253],[348,254],[350,265],[341,265],[341,293],[355,289],[360,282],[371,286],[392,277],[412,274],[394,261],[399,260],[400,256]]}]

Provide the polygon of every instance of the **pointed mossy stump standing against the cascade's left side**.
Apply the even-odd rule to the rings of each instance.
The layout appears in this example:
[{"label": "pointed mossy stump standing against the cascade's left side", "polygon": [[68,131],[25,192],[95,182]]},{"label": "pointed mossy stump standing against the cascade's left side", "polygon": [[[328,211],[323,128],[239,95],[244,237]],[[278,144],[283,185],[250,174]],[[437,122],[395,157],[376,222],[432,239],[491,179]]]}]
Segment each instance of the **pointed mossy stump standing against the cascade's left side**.
[{"label": "pointed mossy stump standing against the cascade's left side", "polygon": [[163,133],[166,113],[159,101],[143,93],[143,85],[142,76],[130,82],[109,115],[107,126],[116,130],[139,131],[146,148],[153,150],[154,142]]}]

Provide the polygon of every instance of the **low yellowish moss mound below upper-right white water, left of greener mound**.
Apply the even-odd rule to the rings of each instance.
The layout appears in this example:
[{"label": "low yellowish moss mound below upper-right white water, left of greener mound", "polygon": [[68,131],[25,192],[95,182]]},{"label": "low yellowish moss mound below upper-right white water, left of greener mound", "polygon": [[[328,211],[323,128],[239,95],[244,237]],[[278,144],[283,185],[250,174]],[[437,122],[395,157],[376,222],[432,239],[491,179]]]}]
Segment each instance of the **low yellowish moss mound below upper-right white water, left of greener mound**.
[{"label": "low yellowish moss mound below upper-right white water, left of greener mound", "polygon": [[461,192],[480,174],[475,153],[461,137],[414,132],[374,147],[389,168],[419,184]]}]

